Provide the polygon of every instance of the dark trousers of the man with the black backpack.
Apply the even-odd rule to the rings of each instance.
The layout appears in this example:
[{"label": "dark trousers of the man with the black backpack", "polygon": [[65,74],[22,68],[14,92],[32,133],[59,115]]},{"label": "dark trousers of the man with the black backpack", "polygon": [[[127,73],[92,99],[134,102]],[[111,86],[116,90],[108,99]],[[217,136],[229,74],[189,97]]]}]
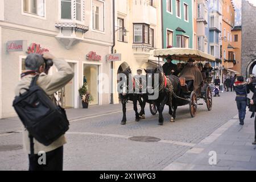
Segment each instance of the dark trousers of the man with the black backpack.
[{"label": "dark trousers of the man with the black backpack", "polygon": [[[53,151],[46,152],[46,164],[40,165],[38,159],[42,155],[28,155],[30,162],[29,171],[63,171],[63,146]],[[41,160],[39,160],[41,161]]]}]

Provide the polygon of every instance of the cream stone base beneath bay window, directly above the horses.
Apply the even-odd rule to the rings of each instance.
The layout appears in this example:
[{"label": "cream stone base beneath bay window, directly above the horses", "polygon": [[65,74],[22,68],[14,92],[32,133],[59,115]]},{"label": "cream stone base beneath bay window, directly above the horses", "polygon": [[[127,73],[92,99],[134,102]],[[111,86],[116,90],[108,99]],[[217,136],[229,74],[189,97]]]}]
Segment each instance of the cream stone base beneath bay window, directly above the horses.
[{"label": "cream stone base beneath bay window, directly above the horses", "polygon": [[133,44],[133,53],[135,59],[140,62],[147,62],[151,53],[150,51],[154,49],[148,44]]}]

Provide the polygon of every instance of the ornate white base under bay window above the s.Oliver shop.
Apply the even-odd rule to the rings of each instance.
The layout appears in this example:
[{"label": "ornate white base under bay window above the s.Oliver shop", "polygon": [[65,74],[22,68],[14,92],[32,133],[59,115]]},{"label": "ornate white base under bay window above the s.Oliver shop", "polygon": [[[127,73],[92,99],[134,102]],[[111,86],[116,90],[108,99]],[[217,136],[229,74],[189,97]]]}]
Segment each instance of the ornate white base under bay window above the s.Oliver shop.
[{"label": "ornate white base under bay window above the s.Oliver shop", "polygon": [[55,27],[60,30],[56,39],[59,40],[66,49],[70,49],[75,44],[84,40],[84,34],[89,30],[88,26],[73,22],[55,23]]}]

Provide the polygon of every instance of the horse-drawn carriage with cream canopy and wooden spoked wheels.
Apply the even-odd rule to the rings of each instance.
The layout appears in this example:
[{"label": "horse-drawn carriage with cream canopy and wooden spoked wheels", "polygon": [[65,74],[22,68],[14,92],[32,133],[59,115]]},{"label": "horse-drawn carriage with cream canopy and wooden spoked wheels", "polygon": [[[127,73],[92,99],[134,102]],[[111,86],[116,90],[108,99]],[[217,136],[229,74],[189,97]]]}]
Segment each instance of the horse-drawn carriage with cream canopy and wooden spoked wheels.
[{"label": "horse-drawn carriage with cream canopy and wooden spoked wheels", "polygon": [[[166,58],[171,56],[172,60],[178,61],[188,61],[193,59],[199,63],[205,61],[215,61],[215,58],[207,53],[201,52],[196,49],[189,48],[168,48],[168,49],[156,49],[154,51],[154,56]],[[203,105],[197,103],[200,99],[203,99],[207,105],[207,109],[212,109],[212,92],[209,86],[209,82],[212,82],[209,78],[206,78],[201,82],[198,88],[195,88],[193,91],[189,91],[188,85],[184,77],[179,77],[180,85],[182,88],[182,93],[180,96],[175,96],[177,101],[177,106],[189,105],[189,110],[191,117],[195,117],[197,105]],[[152,115],[155,115],[158,112],[156,105],[154,103],[150,104],[150,111]]]}]

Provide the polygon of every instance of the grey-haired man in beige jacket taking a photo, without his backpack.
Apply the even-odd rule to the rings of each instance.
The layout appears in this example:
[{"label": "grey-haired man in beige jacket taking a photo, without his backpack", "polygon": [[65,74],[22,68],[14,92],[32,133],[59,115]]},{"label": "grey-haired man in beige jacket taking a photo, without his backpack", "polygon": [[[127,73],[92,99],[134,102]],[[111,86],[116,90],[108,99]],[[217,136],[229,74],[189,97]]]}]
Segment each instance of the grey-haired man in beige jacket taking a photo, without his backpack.
[{"label": "grey-haired man in beige jacket taking a photo, without his backpack", "polygon": [[[47,60],[47,61],[46,61]],[[52,62],[51,62],[52,60]],[[55,65],[58,72],[53,75],[47,75],[49,68]],[[43,55],[32,53],[27,56],[25,60],[26,71],[22,73],[21,80],[16,86],[15,95],[23,94],[29,88],[32,78],[39,75],[36,82],[40,88],[46,92],[53,103],[56,104],[54,93],[63,88],[70,80],[72,80],[74,73],[65,60],[56,59],[49,52],[44,52]],[[55,140],[49,146],[44,146],[35,138],[34,154],[31,152],[30,138],[28,131],[23,128],[23,146],[28,154],[29,170],[30,171],[61,171],[63,170],[63,145],[66,143],[64,135]],[[38,155],[40,151],[46,152],[46,164],[40,165],[38,159],[42,155]]]}]

